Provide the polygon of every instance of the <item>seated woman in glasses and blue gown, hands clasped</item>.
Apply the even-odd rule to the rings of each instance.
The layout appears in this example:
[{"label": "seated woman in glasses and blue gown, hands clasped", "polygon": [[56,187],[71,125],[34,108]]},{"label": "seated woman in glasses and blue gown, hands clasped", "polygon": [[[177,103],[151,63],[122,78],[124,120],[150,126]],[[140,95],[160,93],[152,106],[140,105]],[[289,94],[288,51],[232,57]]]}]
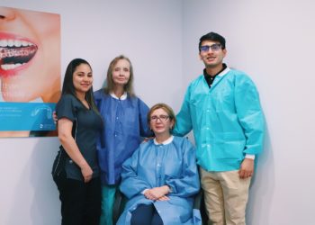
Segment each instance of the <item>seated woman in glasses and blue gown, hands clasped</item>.
[{"label": "seated woman in glasses and blue gown, hands clasped", "polygon": [[156,138],[122,165],[120,189],[129,201],[117,224],[201,224],[193,215],[200,188],[193,145],[171,135],[175,114],[165,103],[150,109],[148,124]]}]

